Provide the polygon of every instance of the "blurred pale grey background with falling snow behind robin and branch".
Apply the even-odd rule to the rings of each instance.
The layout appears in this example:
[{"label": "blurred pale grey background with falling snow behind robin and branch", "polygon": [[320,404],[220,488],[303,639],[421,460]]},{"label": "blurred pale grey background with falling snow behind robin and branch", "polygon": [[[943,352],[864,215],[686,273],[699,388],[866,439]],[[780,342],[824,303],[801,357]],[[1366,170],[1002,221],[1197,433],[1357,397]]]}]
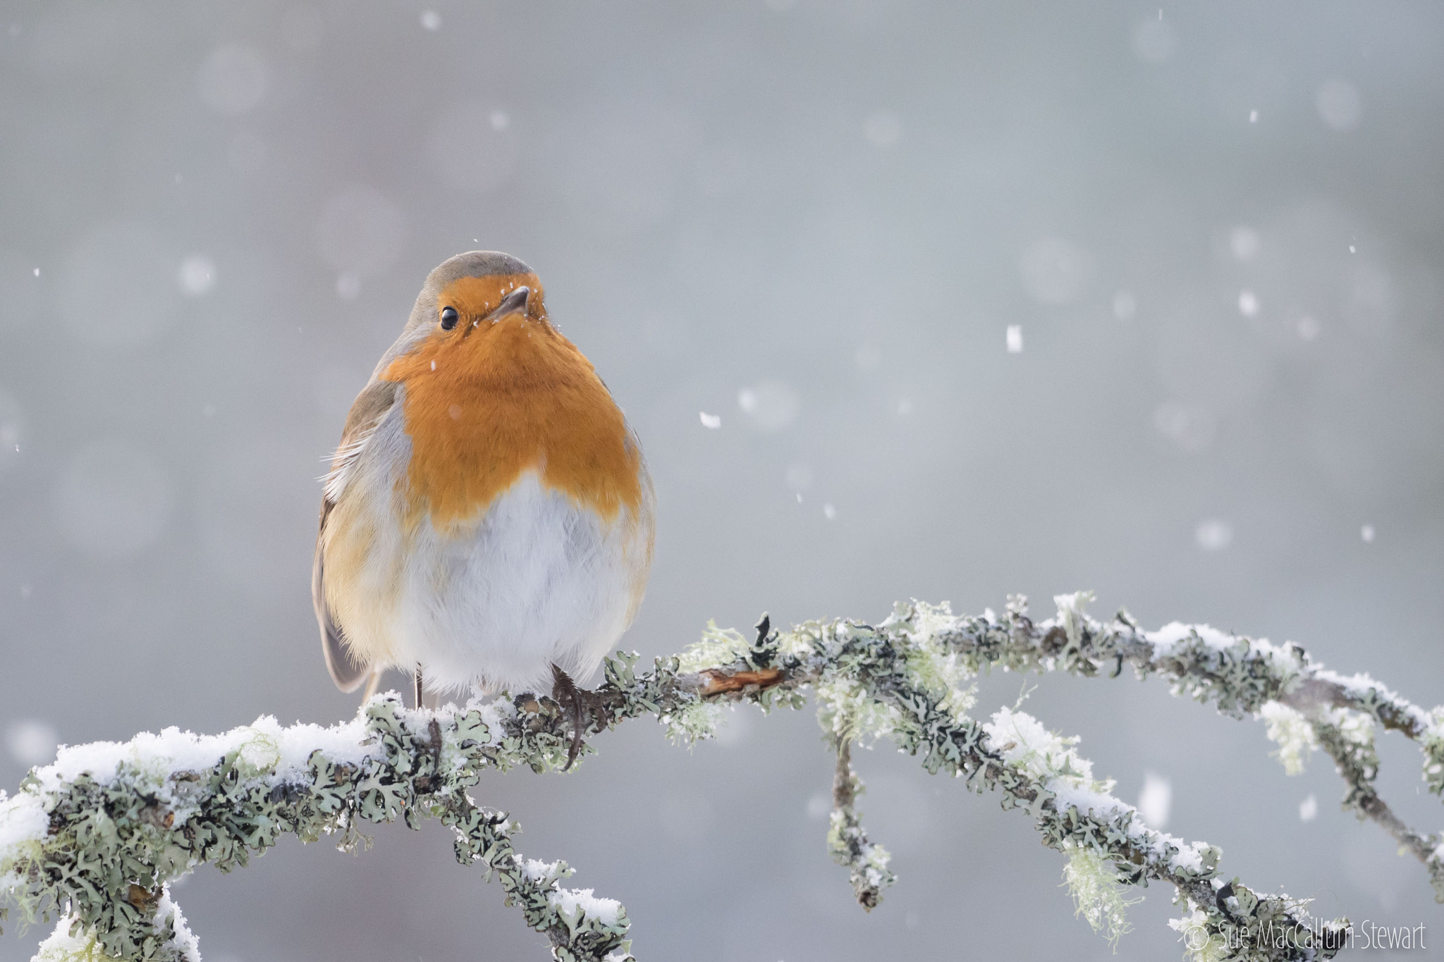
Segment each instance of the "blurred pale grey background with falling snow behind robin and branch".
[{"label": "blurred pale grey background with falling snow behind robin and branch", "polygon": [[[426,271],[478,247],[540,273],[643,438],[648,659],[764,609],[1093,588],[1444,702],[1438,4],[10,0],[0,72],[3,786],[56,740],[354,711],[316,477]],[[1027,710],[1226,875],[1438,952],[1424,871],[1321,756],[1288,779],[1157,681]],[[475,796],[621,899],[638,958],[1181,955],[1170,891],[1110,956],[1025,816],[885,744],[862,809],[900,883],[864,914],[810,710],[595,744]],[[176,897],[218,962],[546,958],[438,825]]]}]

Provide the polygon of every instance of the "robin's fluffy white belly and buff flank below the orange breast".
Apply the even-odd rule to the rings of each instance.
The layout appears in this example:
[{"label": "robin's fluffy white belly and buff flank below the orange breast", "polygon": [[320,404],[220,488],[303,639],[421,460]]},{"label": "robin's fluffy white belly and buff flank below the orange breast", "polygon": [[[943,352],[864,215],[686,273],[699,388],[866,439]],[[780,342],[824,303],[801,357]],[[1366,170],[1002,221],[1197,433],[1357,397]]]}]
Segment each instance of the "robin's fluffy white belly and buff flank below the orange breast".
[{"label": "robin's fluffy white belly and buff flank below the orange breast", "polygon": [[605,524],[530,470],[461,534],[439,534],[429,519],[406,532],[396,482],[410,444],[386,421],[347,479],[351,503],[338,505],[328,537],[328,558],[365,541],[361,565],[328,561],[326,571],[328,597],[349,596],[338,607],[357,612],[341,622],[352,650],[373,666],[420,663],[432,689],[550,691],[553,663],[585,679],[641,600],[650,483],[640,516],[622,508]]}]

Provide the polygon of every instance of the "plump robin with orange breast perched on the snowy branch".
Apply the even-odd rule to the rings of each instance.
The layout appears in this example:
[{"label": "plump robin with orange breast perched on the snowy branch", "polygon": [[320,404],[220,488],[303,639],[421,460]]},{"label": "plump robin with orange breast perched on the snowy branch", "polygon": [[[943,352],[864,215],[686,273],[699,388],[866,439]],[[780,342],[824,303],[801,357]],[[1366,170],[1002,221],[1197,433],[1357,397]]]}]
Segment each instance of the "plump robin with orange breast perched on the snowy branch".
[{"label": "plump robin with orange breast perched on the snowy branch", "polygon": [[651,570],[637,436],[547,317],[530,267],[471,251],[426,277],[347,415],[310,593],[341,691],[388,668],[423,689],[544,691],[570,705]]}]

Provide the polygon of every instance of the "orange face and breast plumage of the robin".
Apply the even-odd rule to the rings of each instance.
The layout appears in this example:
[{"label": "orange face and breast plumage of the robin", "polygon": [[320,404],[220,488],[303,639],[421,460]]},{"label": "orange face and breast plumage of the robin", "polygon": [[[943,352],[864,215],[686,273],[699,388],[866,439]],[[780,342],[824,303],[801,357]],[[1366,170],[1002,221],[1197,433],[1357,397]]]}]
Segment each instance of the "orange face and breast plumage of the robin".
[{"label": "orange face and breast plumage of the robin", "polygon": [[534,275],[466,277],[438,310],[461,313],[383,372],[406,385],[410,524],[426,515],[456,534],[479,519],[524,472],[591,508],[604,521],[641,503],[641,451],[592,363],[546,320],[539,286],[531,309],[484,320]]}]

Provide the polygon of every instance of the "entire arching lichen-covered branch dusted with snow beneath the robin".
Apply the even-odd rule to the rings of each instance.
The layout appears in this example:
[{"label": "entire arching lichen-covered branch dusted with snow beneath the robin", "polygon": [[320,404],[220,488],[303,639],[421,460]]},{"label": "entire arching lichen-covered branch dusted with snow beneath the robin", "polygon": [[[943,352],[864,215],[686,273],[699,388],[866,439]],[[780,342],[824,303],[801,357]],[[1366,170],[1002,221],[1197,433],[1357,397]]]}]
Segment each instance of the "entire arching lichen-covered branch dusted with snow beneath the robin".
[{"label": "entire arching lichen-covered branch dusted with snow beneath the robin", "polygon": [[[1076,738],[1060,737],[1015,708],[978,721],[970,681],[982,671],[1158,674],[1175,694],[1212,701],[1232,717],[1261,717],[1297,769],[1314,747],[1347,783],[1344,806],[1379,822],[1412,851],[1444,900],[1444,844],[1404,825],[1373,789],[1373,725],[1402,731],[1425,753],[1430,790],[1444,790],[1444,710],[1424,711],[1367,676],[1341,678],[1297,645],[1230,636],[1207,626],[1144,632],[1126,612],[1100,623],[1083,612],[1092,596],[1058,596],[1056,617],[1035,623],[1025,600],[1004,617],[954,617],[947,606],[900,604],[877,626],[807,622],[787,632],[767,619],[755,639],[709,627],[682,655],[637,671],[618,653],[585,705],[585,734],[625,718],[658,718],[679,741],[715,730],[722,702],[764,711],[800,708],[806,692],[838,753],[827,847],[849,870],[856,900],[871,909],[892,884],[887,851],[868,839],[853,809],[862,783],[853,741],[891,738],[978,792],[998,792],[1025,812],[1045,845],[1067,857],[1064,877],[1079,913],[1116,939],[1126,932],[1126,886],[1165,881],[1186,917],[1174,927],[1199,959],[1331,958],[1347,920],[1320,922],[1307,900],[1268,896],[1219,875],[1220,851],[1147,828],[1138,812],[1095,779]],[[472,700],[436,711],[403,708],[394,695],[367,702],[329,728],[282,727],[263,717],[222,736],[168,728],[127,743],[62,749],[13,798],[0,793],[0,891],[26,922],[58,916],[38,962],[124,958],[199,959],[195,936],[168,884],[202,862],[228,871],[284,834],[331,838],[345,851],[368,844],[365,824],[436,818],[456,835],[456,858],[495,877],[510,906],[547,936],[560,962],[632,959],[630,920],[592,890],[562,887],[560,861],[523,858],[516,822],[468,795],[484,769],[559,770],[570,712],[550,698]],[[591,747],[585,753],[592,753]],[[1276,937],[1275,933],[1288,933]]]}]

